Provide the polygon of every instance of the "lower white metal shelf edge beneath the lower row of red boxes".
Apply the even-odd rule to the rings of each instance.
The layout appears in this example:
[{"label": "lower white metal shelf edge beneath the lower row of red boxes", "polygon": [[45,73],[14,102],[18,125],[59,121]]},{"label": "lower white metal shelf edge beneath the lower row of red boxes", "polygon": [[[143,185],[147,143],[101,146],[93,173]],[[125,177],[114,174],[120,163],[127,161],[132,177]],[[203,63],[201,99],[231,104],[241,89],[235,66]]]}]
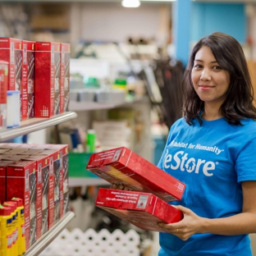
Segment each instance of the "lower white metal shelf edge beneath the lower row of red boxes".
[{"label": "lower white metal shelf edge beneath the lower row of red boxes", "polygon": [[25,252],[25,256],[35,256],[43,252],[43,250],[53,242],[57,235],[62,232],[73,217],[75,217],[75,213],[66,213],[59,222],[57,222],[49,231],[46,231],[39,240],[36,240],[36,242],[30,246]]}]

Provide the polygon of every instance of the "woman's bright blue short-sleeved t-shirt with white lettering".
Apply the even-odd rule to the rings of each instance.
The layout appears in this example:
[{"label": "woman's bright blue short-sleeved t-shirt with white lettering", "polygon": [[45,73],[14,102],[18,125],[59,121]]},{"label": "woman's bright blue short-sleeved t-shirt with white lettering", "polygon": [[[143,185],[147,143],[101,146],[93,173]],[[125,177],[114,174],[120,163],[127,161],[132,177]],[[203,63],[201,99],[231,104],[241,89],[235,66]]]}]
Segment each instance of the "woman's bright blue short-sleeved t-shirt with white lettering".
[{"label": "woman's bright blue short-sleeved t-shirt with white lettering", "polygon": [[[184,118],[171,126],[158,163],[163,171],[186,185],[181,204],[200,217],[229,217],[241,213],[241,181],[256,181],[256,121],[229,125],[224,118],[194,121]],[[249,235],[195,234],[183,241],[160,233],[158,255],[250,256]]]}]

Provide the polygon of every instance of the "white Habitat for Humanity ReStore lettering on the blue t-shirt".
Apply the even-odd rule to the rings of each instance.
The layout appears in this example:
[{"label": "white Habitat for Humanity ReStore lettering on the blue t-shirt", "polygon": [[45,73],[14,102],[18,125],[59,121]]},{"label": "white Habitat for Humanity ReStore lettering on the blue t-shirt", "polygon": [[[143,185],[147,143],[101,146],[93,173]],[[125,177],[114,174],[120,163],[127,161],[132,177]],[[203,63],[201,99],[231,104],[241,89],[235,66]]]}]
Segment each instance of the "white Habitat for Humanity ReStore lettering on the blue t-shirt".
[{"label": "white Habitat for Humanity ReStore lettering on the blue t-shirt", "polygon": [[[218,149],[216,146],[208,147],[202,146],[200,144],[185,144],[185,143],[177,143],[172,141],[170,144],[172,147],[183,148],[183,149],[201,149],[211,151],[213,153],[219,154],[224,151],[223,149]],[[215,170],[216,163],[212,161],[206,161],[205,159],[195,159],[190,158],[189,153],[185,153],[183,150],[176,152],[174,155],[167,152],[163,158],[163,167],[171,170],[180,169],[181,171],[193,172],[199,174],[203,172],[205,176],[213,176],[213,171]]]}]

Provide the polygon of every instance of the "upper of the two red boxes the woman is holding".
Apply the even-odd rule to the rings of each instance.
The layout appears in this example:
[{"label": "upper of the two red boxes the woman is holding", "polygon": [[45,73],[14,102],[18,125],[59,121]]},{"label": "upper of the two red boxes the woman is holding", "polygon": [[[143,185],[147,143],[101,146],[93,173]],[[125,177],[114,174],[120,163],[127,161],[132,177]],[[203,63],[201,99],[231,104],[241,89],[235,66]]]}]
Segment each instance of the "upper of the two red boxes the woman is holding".
[{"label": "upper of the two red boxes the woman is holding", "polygon": [[126,190],[152,193],[167,202],[181,200],[185,184],[126,147],[93,153],[87,170]]}]

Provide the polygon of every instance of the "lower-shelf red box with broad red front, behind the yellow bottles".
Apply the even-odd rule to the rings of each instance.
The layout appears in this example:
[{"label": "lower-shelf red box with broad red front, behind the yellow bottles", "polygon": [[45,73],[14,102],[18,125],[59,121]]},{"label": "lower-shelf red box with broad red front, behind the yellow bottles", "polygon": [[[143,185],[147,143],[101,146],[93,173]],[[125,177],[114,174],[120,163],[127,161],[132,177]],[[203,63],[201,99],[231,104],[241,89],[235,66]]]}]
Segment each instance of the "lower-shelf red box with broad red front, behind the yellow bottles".
[{"label": "lower-shelf red box with broad red front, behind the yellow bottles", "polygon": [[7,201],[21,198],[24,202],[25,248],[36,240],[36,162],[21,161],[7,167]]}]

